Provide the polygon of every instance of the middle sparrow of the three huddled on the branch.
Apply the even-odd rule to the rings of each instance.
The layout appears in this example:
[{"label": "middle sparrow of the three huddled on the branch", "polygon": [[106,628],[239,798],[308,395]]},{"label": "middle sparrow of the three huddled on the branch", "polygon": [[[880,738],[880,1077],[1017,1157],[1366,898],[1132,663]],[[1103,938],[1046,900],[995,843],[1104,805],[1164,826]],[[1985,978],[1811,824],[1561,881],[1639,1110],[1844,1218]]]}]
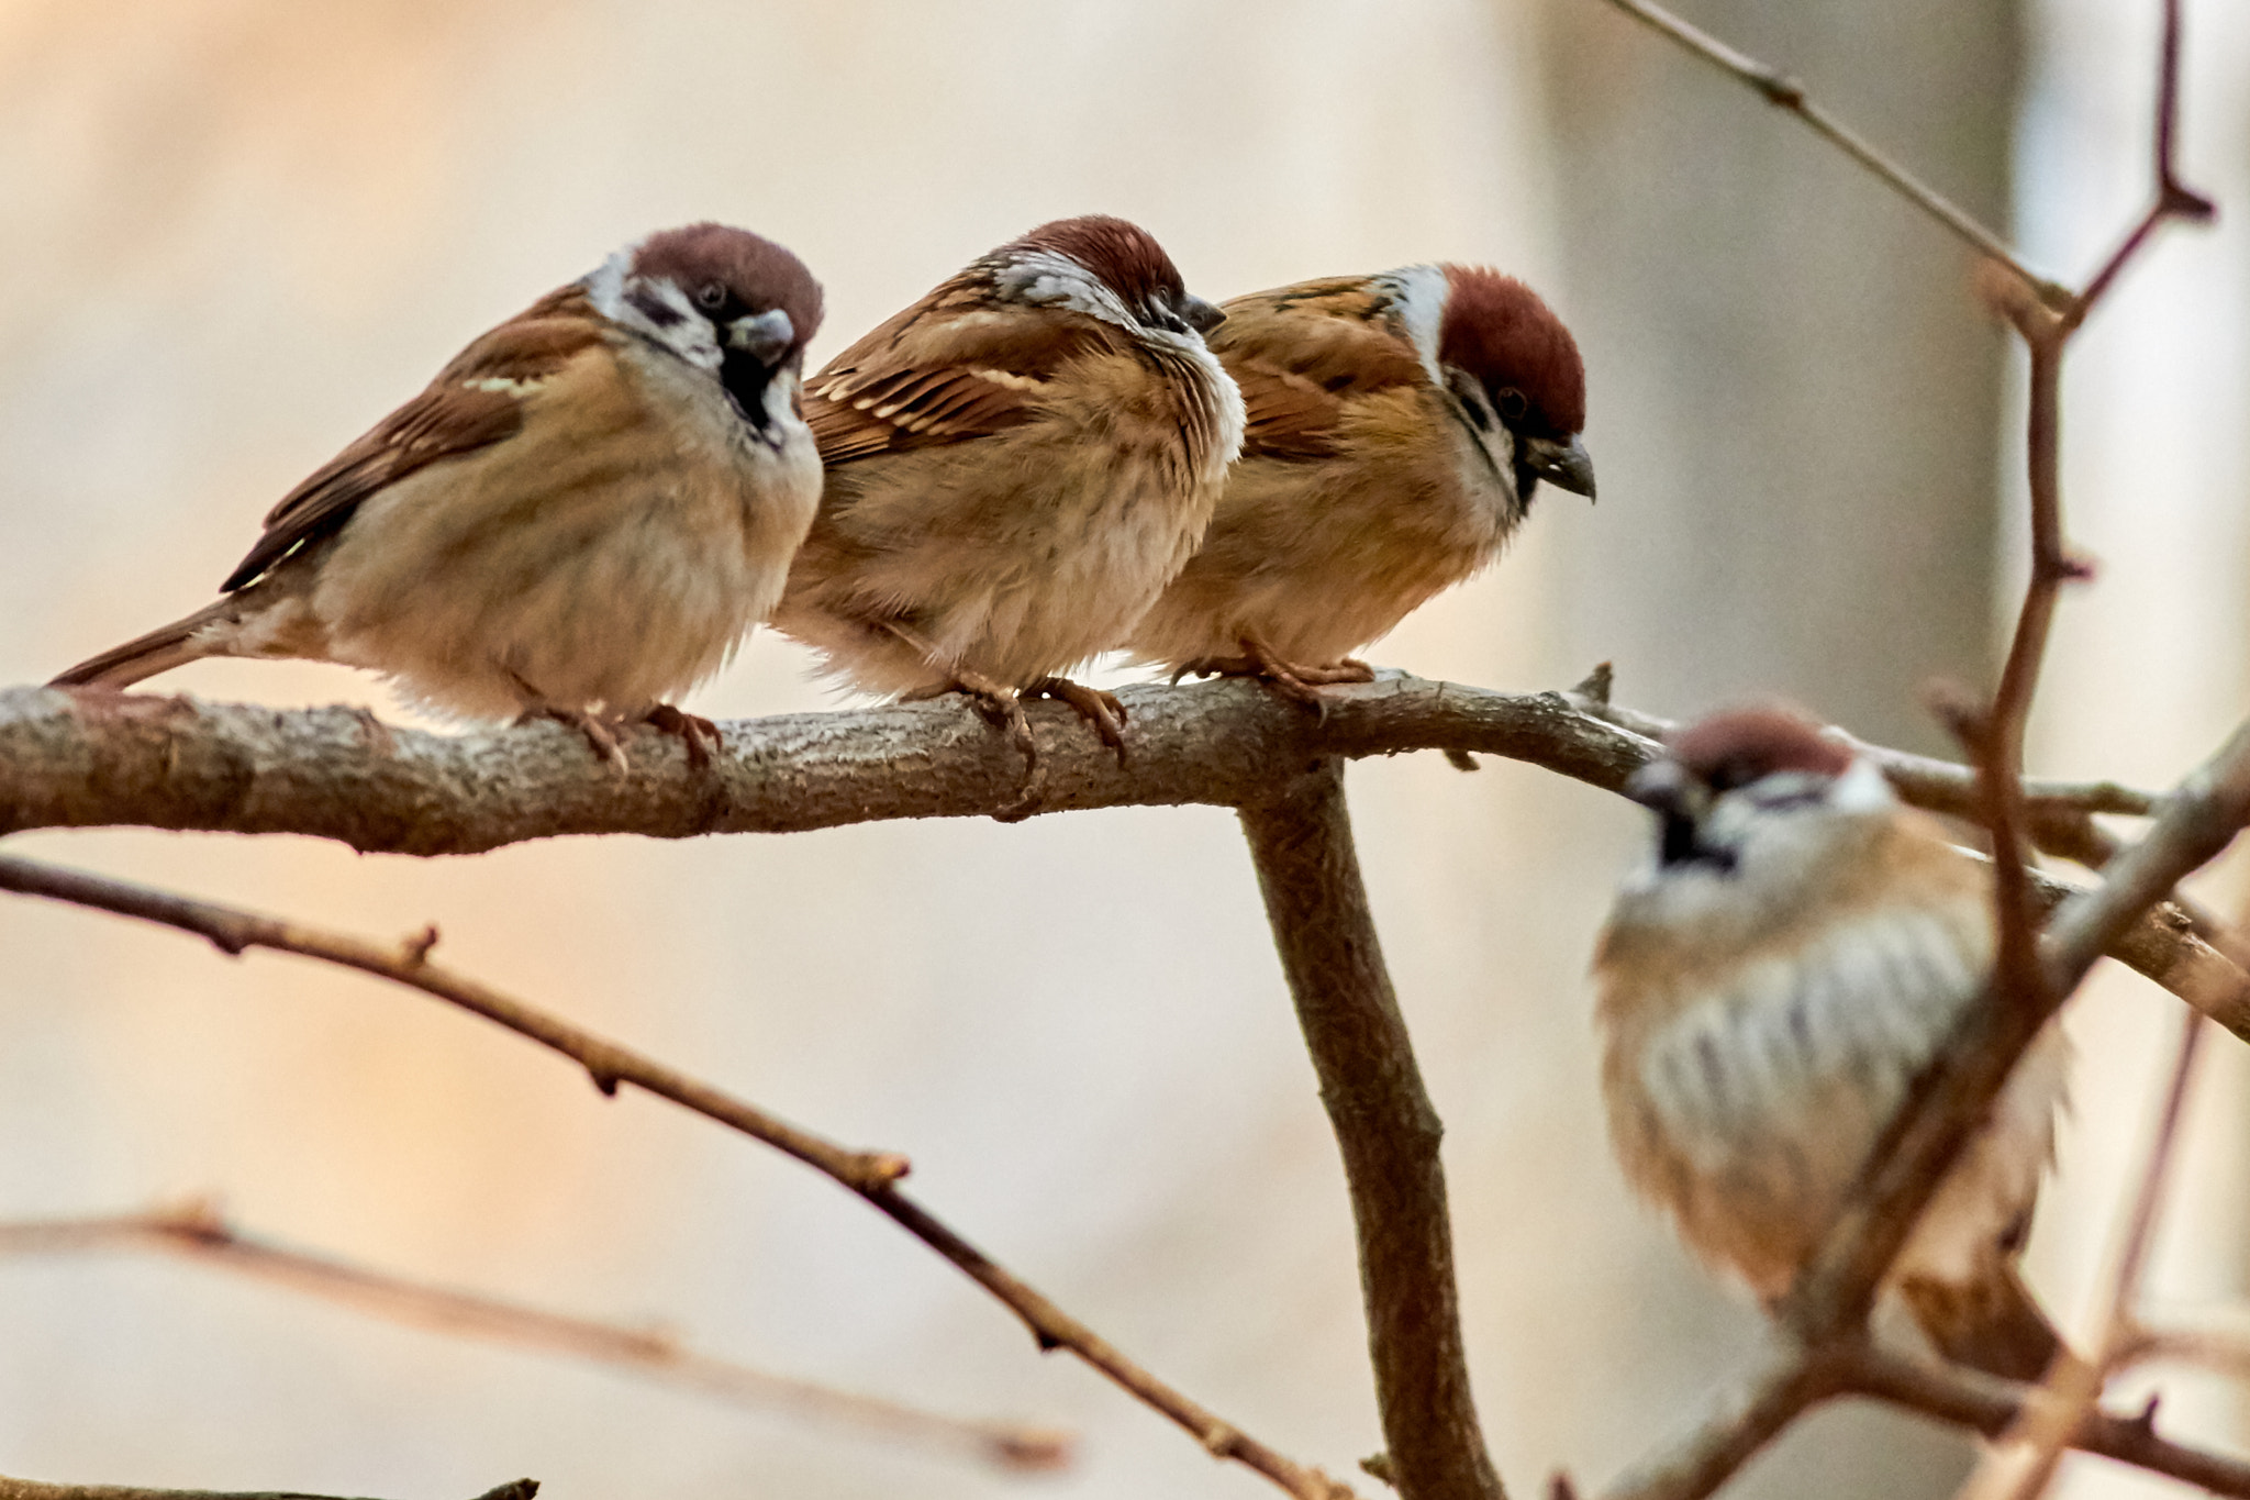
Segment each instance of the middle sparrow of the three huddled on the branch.
[{"label": "middle sparrow of the three huddled on the branch", "polygon": [[1064,218],[1001,245],[806,382],[828,486],[774,627],[868,693],[963,690],[1037,767],[1017,690],[1123,751],[1060,677],[1125,639],[1210,522],[1242,398],[1220,310],[1148,232]]}]

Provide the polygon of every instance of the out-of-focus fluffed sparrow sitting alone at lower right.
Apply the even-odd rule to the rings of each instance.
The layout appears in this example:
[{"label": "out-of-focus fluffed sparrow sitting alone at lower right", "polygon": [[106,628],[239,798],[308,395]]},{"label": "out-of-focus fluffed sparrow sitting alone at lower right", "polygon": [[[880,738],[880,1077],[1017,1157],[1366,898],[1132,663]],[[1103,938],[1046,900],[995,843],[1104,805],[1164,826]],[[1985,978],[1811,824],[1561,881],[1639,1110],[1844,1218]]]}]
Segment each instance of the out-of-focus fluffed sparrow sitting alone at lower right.
[{"label": "out-of-focus fluffed sparrow sitting alone at lower right", "polygon": [[[1627,787],[1663,821],[1595,951],[1627,1178],[1764,1302],[1820,1246],[1908,1084],[1991,972],[1991,877],[1802,720],[1721,713]],[[2016,1275],[2068,1046],[2016,1064],[1888,1289],[1944,1354],[2018,1381],[2059,1345]]]}]

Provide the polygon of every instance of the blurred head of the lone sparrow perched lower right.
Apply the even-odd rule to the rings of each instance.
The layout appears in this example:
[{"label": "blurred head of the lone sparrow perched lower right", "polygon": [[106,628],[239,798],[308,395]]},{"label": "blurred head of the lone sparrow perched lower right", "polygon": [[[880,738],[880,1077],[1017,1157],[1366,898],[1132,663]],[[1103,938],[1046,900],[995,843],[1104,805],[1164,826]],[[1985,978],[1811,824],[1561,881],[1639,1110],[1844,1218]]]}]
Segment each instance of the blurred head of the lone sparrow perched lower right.
[{"label": "blurred head of the lone sparrow perched lower right", "polygon": [[1714,713],[1672,735],[1660,760],[1634,771],[1624,794],[1658,816],[1663,868],[1739,868],[1753,839],[1793,814],[1888,812],[1890,785],[1872,760],[1773,706]]}]

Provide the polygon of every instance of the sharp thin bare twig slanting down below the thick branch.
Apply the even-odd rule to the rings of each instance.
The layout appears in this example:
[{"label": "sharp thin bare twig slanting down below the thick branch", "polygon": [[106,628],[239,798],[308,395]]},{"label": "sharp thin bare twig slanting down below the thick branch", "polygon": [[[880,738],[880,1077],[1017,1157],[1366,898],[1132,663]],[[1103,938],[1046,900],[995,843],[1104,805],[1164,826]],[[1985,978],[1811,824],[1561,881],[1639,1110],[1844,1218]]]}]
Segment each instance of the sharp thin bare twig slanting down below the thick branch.
[{"label": "sharp thin bare twig slanting down below the thick branch", "polygon": [[[243,954],[252,947],[279,954],[299,954],[326,963],[360,969],[378,978],[394,981],[410,990],[436,996],[472,1014],[495,1021],[511,1032],[556,1050],[594,1079],[603,1093],[614,1093],[619,1084],[646,1088],[662,1100],[680,1104],[706,1120],[727,1124],[745,1136],[763,1140],[817,1172],[835,1178],[860,1194],[878,1212],[902,1226],[909,1235],[943,1255],[963,1275],[992,1293],[1008,1311],[1024,1320],[1042,1349],[1069,1349],[1114,1383],[1170,1417],[1186,1428],[1215,1457],[1235,1460],[1300,1500],[1336,1500],[1350,1491],[1318,1469],[1289,1460],[1240,1428],[1222,1421],[1204,1406],[1166,1385],[1154,1374],[1130,1361],[1116,1345],[1069,1316],[1051,1298],[999,1266],[983,1250],[947,1228],[940,1219],[907,1199],[898,1190],[898,1178],[907,1174],[907,1160],[889,1151],[848,1151],[830,1140],[785,1124],[774,1115],[745,1104],[709,1084],[691,1079],[664,1064],[632,1052],[614,1041],[596,1037],[544,1010],[500,994],[488,985],[428,963],[414,951],[412,940],[403,949],[387,949],[360,938],[326,933],[295,922],[198,902],[146,886],[56,870],[0,855],[0,891],[43,895],[76,906],[112,911],[162,927],[176,927],[200,938],[209,938],[225,954]],[[4,1498],[0,1498],[4,1500]]]}]

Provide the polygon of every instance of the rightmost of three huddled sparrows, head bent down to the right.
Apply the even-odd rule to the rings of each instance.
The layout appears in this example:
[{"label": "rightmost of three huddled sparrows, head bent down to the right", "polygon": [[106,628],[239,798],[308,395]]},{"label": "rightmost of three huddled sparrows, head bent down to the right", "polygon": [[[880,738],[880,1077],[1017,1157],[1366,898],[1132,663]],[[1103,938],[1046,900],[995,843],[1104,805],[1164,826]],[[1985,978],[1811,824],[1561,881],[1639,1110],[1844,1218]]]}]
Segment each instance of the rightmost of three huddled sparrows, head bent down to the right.
[{"label": "rightmost of three huddled sparrows, head bent down to the right", "polygon": [[1348,652],[1478,571],[1541,479],[1593,499],[1586,367],[1521,281],[1408,265],[1224,304],[1249,430],[1202,551],[1127,648],[1316,702]]}]

